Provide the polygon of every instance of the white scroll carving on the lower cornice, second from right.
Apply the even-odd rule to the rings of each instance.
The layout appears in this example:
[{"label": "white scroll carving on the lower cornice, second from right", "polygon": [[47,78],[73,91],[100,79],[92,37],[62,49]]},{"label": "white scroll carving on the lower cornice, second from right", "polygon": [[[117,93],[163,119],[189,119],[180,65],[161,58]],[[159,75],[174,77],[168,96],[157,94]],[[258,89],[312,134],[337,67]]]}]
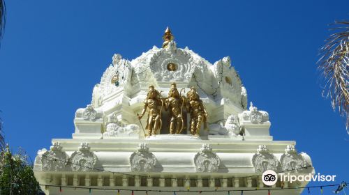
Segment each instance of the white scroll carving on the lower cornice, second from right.
[{"label": "white scroll carving on the lower cornice, second from right", "polygon": [[276,157],[269,153],[267,146],[260,145],[257,153],[252,157],[252,164],[255,167],[255,173],[263,173],[267,170],[279,171],[280,162]]}]

